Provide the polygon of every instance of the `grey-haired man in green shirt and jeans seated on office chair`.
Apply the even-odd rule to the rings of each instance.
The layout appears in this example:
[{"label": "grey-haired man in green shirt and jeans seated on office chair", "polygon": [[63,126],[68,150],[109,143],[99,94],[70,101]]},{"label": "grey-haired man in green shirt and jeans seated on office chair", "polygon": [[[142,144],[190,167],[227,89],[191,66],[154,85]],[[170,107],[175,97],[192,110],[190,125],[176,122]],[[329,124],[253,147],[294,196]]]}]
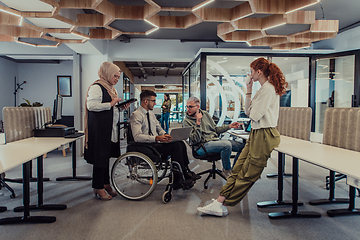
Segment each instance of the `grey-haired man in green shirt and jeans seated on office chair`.
[{"label": "grey-haired man in green shirt and jeans seated on office chair", "polygon": [[[240,123],[233,122],[229,125],[217,127],[210,114],[200,109],[200,100],[197,97],[190,97],[186,104],[187,112],[183,121],[183,127],[193,127],[190,133],[190,141],[192,143],[203,143],[208,153],[220,153],[223,164],[223,173],[226,178],[231,173],[230,157],[231,152],[237,152],[235,161],[237,160],[245,143],[240,143],[233,140],[221,140],[219,134],[226,132],[231,128],[238,128]],[[199,146],[195,149],[199,155],[204,155],[205,151]]]}]

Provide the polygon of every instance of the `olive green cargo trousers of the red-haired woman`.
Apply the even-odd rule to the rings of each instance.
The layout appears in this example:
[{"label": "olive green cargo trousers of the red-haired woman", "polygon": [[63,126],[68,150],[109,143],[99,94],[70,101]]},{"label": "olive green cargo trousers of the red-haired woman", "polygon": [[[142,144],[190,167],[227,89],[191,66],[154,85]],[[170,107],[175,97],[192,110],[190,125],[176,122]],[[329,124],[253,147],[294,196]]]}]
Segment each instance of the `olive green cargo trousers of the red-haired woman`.
[{"label": "olive green cargo trousers of the red-haired woman", "polygon": [[225,205],[234,206],[246,196],[260,178],[270,153],[279,144],[280,134],[276,128],[251,130],[230,177],[220,191],[220,196],[225,197]]}]

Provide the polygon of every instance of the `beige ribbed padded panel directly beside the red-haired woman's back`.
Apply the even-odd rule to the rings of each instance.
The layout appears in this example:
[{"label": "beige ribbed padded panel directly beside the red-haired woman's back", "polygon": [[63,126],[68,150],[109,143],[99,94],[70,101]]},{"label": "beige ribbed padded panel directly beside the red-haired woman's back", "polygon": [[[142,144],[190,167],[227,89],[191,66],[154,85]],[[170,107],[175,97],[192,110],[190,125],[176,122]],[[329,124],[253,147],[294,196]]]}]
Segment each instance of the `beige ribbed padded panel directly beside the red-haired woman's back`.
[{"label": "beige ribbed padded panel directly beside the red-haired woman's back", "polygon": [[280,107],[277,130],[283,136],[310,140],[310,107]]}]

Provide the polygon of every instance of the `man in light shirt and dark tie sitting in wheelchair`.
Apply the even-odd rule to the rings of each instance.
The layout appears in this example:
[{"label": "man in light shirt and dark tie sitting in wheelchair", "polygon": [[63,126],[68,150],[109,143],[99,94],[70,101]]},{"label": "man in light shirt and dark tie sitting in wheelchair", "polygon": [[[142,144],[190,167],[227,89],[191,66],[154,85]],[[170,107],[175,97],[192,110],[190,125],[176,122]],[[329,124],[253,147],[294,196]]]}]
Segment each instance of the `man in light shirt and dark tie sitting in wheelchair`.
[{"label": "man in light shirt and dark tie sitting in wheelchair", "polygon": [[[156,93],[150,90],[144,90],[140,94],[140,107],[131,114],[130,126],[132,137],[137,143],[148,143],[162,156],[165,160],[169,155],[171,161],[177,162],[180,165],[178,171],[174,171],[174,185],[173,189],[183,188],[184,190],[190,189],[194,186],[195,180],[200,176],[190,171],[188,164],[189,159],[187,156],[186,146],[183,141],[172,141],[172,137],[161,128],[159,121],[156,119],[155,114],[150,111],[154,109],[156,104]],[[152,158],[154,155],[151,150],[146,147],[137,147],[136,151],[142,152],[148,157]],[[178,176],[178,172],[182,176]],[[185,181],[183,180],[185,179]]]}]

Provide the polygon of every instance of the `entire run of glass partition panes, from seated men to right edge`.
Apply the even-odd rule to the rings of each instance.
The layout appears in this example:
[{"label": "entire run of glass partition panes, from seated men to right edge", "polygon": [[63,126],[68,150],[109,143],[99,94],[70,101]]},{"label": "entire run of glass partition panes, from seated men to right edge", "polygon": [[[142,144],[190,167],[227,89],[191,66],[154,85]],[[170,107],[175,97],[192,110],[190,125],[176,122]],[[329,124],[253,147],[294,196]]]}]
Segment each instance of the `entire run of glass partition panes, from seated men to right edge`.
[{"label": "entire run of glass partition panes, from seated men to right edge", "polygon": [[[244,78],[250,73],[250,63],[258,57],[260,56],[249,54],[239,56],[229,53],[201,53],[183,73],[184,101],[188,96],[201,99],[200,96],[205,94],[206,110],[218,125],[246,118]],[[353,106],[354,86],[359,85],[360,89],[358,83],[360,79],[356,80],[354,77],[360,76],[360,73],[357,73],[360,68],[355,69],[356,61],[360,66],[360,51],[315,57],[310,54],[268,54],[264,57],[279,66],[289,83],[286,94],[280,98],[280,106],[311,106],[313,132],[323,132],[327,107]],[[200,62],[200,59],[204,63]],[[205,69],[201,69],[200,66]],[[312,79],[310,79],[310,70],[314,71],[311,74]],[[206,89],[205,92],[200,92],[200,82],[206,84],[206,88],[203,88]],[[310,86],[310,82],[314,84]],[[255,93],[259,88],[260,84],[256,83],[253,92]]]}]

